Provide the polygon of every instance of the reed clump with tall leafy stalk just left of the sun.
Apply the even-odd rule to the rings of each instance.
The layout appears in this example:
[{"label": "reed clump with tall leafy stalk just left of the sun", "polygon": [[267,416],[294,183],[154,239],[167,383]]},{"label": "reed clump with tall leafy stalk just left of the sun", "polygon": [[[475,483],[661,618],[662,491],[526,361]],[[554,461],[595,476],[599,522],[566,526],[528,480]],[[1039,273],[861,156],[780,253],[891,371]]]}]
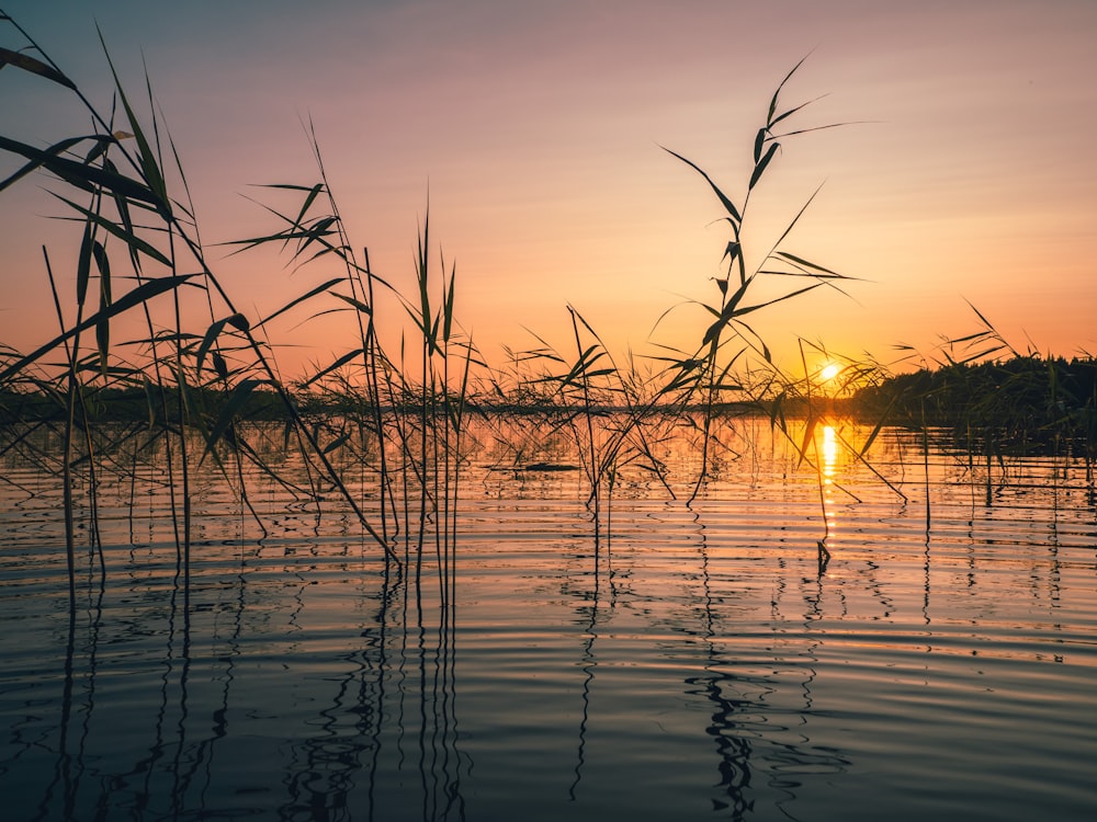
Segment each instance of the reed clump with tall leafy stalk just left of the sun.
[{"label": "reed clump with tall leafy stalk just left of the sun", "polygon": [[[754,269],[747,265],[750,258],[747,246],[753,238],[748,238],[744,230],[751,195],[765,179],[783,142],[793,136],[841,125],[781,130],[782,126],[788,127],[793,115],[807,105],[803,103],[788,109],[781,105],[785,85],[802,65],[803,60],[788,72],[770,99],[765,121],[753,144],[750,172],[739,201],[742,206],[737,206],[699,164],[666,149],[708,183],[723,208],[721,219],[731,230],[731,239],[721,259],[726,270],[714,281],[716,299],[692,301],[706,316],[706,324],[697,346],[689,351],[658,346],[665,353],[649,357],[658,370],[638,378],[635,364],[630,363],[627,369],[620,368],[597,332],[569,305],[567,310],[576,351],[574,359],[562,355],[556,346],[540,336],[536,338],[539,346],[512,356],[516,363],[533,369],[533,374],[524,380],[519,378],[520,383],[552,386],[555,390],[551,400],[542,399],[540,402],[546,409],[558,409],[562,418],[557,425],[568,427],[574,434],[590,486],[588,502],[596,523],[596,539],[603,483],[611,490],[622,465],[642,466],[670,491],[659,460],[649,447],[653,436],[648,430],[653,420],[670,416],[679,427],[698,435],[700,469],[689,494],[689,503],[695,500],[709,476],[713,449],[722,447],[714,435],[717,418],[728,413],[768,414],[772,425],[793,439],[802,459],[813,463],[810,453],[813,432],[830,408],[826,403],[814,402],[812,386],[817,376],[808,373],[806,361],[803,361],[802,375],[790,374],[774,362],[770,344],[755,328],[755,315],[777,304],[803,298],[819,287],[840,292],[845,283],[853,278],[785,248],[785,241],[818,190],[783,227],[777,241],[761,254]],[[792,285],[780,287],[784,282]],[[776,296],[772,290],[774,284],[779,285]],[[674,308],[668,309],[659,322],[671,310]],[[875,368],[872,364],[849,361],[844,374],[845,386],[849,389],[874,378]],[[501,390],[497,388],[497,391],[502,396]],[[535,392],[532,393],[535,396]],[[790,424],[787,414],[790,407],[794,407],[798,414],[807,416],[802,437],[794,433],[798,426]],[[858,452],[853,449],[853,453]]]}]

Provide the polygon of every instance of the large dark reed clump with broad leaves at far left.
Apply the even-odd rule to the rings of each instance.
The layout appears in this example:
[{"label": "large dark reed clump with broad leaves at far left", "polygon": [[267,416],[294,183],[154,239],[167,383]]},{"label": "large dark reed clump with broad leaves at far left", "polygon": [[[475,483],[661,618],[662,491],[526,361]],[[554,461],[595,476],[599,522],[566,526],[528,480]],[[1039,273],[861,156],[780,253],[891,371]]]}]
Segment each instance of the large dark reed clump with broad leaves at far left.
[{"label": "large dark reed clump with broad leaves at far left", "polygon": [[[331,284],[309,292],[258,322],[246,317],[208,264],[183,165],[167,129],[155,113],[147,123],[138,116],[110,54],[106,60],[122,110],[121,125],[115,123],[114,106],[110,114],[100,113],[10,15],[0,12],[0,22],[7,25],[8,32],[18,33],[25,44],[18,50],[0,50],[0,65],[12,66],[42,78],[43,82],[68,89],[94,124],[92,134],[66,137],[45,149],[0,135],[0,149],[23,160],[14,173],[0,181],[0,191],[32,172],[45,172],[60,184],[54,195],[75,214],[72,219],[82,227],[75,264],[75,319],[65,317],[63,295],[46,253],[45,266],[53,285],[60,331],[29,354],[5,352],[0,364],[0,391],[21,393],[30,387],[41,386],[43,379],[53,380],[55,376],[44,367],[45,357],[58,349],[66,352],[66,366],[57,378],[64,379],[66,386],[59,422],[65,437],[61,470],[70,576],[73,501],[69,490],[71,470],[77,463],[73,432],[81,426],[86,432],[89,430],[88,408],[97,402],[110,402],[112,397],[106,393],[108,389],[118,386],[140,386],[150,400],[158,400],[157,404],[149,404],[148,429],[144,435],[147,444],[162,439],[167,445],[166,470],[177,514],[173,516],[176,540],[184,575],[190,568],[192,541],[189,487],[192,457],[188,434],[201,435],[205,443],[203,459],[210,458],[220,465],[222,453],[230,454],[239,477],[241,459],[259,459],[247,448],[238,432],[242,421],[240,412],[257,389],[269,391],[278,399],[299,447],[316,463],[326,481],[338,489],[364,530],[395,559],[386,535],[375,527],[335,469],[329,457],[330,443],[321,444],[315,430],[305,424],[296,399],[282,383],[259,335],[259,329],[271,317],[326,293]],[[100,41],[102,43],[102,35]],[[106,52],[105,43],[103,48]],[[146,89],[149,109],[155,112],[147,77]],[[81,198],[82,204],[78,202]],[[326,238],[328,230],[327,225],[313,225],[301,239]],[[120,253],[125,259],[125,276],[118,274],[115,258]],[[118,294],[116,283],[120,279],[133,279],[136,285]],[[194,292],[200,299],[193,299]],[[98,308],[89,305],[89,294],[98,294]],[[169,301],[167,306],[166,300]],[[127,341],[127,347],[142,351],[139,362],[128,363],[116,354],[112,328],[118,318],[134,313],[144,317],[146,335]],[[86,351],[83,334],[92,331],[94,346]],[[37,376],[34,369],[38,369]],[[203,390],[195,390],[199,388]],[[170,408],[169,399],[173,401]],[[95,459],[90,435],[86,438],[86,447],[84,464],[93,471]],[[227,467],[225,477],[231,480]],[[92,478],[90,486],[94,488],[94,484]],[[242,484],[239,489],[244,494]],[[94,505],[93,494],[91,504]]]}]

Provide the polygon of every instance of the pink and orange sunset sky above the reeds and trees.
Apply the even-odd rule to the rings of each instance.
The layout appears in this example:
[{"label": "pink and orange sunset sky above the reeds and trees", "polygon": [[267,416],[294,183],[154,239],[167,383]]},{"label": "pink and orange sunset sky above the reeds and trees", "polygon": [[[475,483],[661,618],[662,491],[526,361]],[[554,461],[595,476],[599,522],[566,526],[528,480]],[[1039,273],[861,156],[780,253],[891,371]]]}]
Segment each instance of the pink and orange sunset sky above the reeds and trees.
[{"label": "pink and orange sunset sky above the reeds and trees", "polygon": [[[726,226],[704,181],[660,147],[742,203],[769,98],[806,55],[783,102],[821,99],[792,126],[849,125],[783,141],[751,194],[748,258],[822,184],[784,248],[863,282],[759,312],[778,357],[799,358],[798,336],[883,362],[900,344],[931,355],[942,335],[979,330],[965,300],[1019,350],[1097,353],[1093,0],[0,9],[104,111],[95,23],[135,96],[144,59],[202,238],[251,316],[332,276],[214,248],[275,227],[245,196],[267,196],[252,184],[315,182],[310,119],[354,246],[403,287],[429,194],[432,254],[456,264],[459,318],[489,361],[533,345],[528,329],[565,347],[568,304],[614,351],[691,347],[705,317],[688,301],[715,299]],[[0,45],[24,44],[3,27]],[[63,89],[20,73],[0,71],[0,134],[45,146],[89,130]],[[0,157],[0,173],[14,168]],[[46,219],[65,212],[44,186],[0,192],[0,342],[22,351],[56,322],[41,246],[69,272],[78,246],[78,228]],[[285,367],[353,345],[338,322],[305,319],[275,340],[293,346]]]}]

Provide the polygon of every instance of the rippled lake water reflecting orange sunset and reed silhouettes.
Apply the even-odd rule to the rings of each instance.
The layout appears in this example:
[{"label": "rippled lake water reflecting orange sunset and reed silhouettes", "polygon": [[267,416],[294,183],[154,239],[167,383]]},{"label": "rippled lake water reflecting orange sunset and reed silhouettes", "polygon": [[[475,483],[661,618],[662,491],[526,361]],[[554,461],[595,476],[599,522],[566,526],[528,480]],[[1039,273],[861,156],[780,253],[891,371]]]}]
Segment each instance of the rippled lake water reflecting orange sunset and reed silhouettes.
[{"label": "rippled lake water reflecting orange sunset and reed silhouettes", "polygon": [[935,454],[927,528],[897,432],[872,461],[906,500],[747,433],[692,506],[623,477],[597,545],[578,472],[485,446],[444,608],[432,541],[386,575],[335,495],[252,476],[264,537],[211,466],[188,590],[150,465],[102,478],[70,615],[60,491],[5,465],[0,815],[1094,819],[1082,466]]}]

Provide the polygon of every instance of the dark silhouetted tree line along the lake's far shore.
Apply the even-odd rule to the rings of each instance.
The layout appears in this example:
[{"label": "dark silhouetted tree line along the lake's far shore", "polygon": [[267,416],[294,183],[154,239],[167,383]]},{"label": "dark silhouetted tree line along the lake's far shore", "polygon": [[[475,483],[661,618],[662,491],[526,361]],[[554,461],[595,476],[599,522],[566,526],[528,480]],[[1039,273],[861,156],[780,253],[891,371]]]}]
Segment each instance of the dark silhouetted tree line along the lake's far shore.
[{"label": "dark silhouetted tree line along the lake's far shore", "polygon": [[[305,418],[355,416],[364,402],[359,392],[297,390],[290,395],[297,413]],[[405,398],[393,397],[397,403]],[[533,402],[542,408],[541,397]],[[216,420],[230,407],[239,422],[290,419],[285,397],[259,385],[245,395],[213,385],[188,387],[180,398],[171,385],[84,389],[79,420],[88,422],[140,422],[178,424],[180,408]],[[468,404],[482,413],[522,413],[530,402],[510,397],[470,397]],[[806,404],[785,400],[783,411],[796,415]],[[736,413],[754,408],[768,413],[765,402],[735,406]],[[63,392],[49,383],[37,390],[0,390],[0,425],[27,422],[61,422],[66,414]],[[943,429],[962,445],[988,453],[1049,450],[1068,445],[1075,452],[1097,457],[1097,359],[1014,356],[980,363],[947,363],[897,374],[860,388],[851,396],[833,399],[830,409],[868,422],[914,429]],[[603,409],[608,412],[612,409]],[[725,411],[733,410],[731,407]]]}]

